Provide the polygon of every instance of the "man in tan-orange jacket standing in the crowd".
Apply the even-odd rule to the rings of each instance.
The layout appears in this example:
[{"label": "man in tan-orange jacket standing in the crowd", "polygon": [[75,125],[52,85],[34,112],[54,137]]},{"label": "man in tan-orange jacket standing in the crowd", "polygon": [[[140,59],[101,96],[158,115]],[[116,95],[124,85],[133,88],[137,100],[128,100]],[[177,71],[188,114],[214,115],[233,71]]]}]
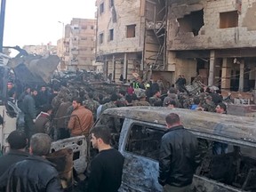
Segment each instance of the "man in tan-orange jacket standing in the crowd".
[{"label": "man in tan-orange jacket standing in the crowd", "polygon": [[72,112],[68,122],[68,129],[70,129],[71,136],[89,136],[90,129],[93,125],[92,111],[84,108],[82,98],[76,98],[73,100],[72,106],[74,111]]}]

